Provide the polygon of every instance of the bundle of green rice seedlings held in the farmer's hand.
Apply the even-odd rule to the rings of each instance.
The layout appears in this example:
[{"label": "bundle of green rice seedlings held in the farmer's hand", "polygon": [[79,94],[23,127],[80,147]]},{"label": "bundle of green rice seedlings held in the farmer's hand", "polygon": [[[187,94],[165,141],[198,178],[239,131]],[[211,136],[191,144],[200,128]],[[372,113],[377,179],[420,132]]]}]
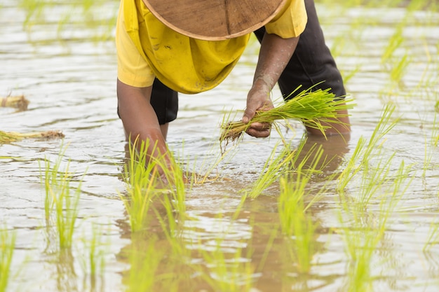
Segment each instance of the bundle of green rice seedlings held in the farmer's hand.
[{"label": "bundle of green rice seedlings held in the farmer's hand", "polygon": [[[297,88],[295,92],[298,90]],[[286,123],[288,120],[300,120],[307,127],[318,129],[325,135],[325,130],[330,126],[327,123],[339,123],[341,121],[337,118],[346,116],[339,113],[353,108],[353,104],[349,104],[351,99],[337,98],[335,95],[329,92],[330,88],[326,90],[303,90],[298,95],[289,99],[287,102],[281,102],[278,106],[275,106],[269,111],[257,111],[255,116],[250,120],[248,124],[243,123],[241,120],[222,123],[222,134],[219,137],[219,141],[235,141],[243,132],[245,132],[252,123]],[[292,92],[293,95],[295,92]],[[224,119],[225,120],[225,119]]]}]

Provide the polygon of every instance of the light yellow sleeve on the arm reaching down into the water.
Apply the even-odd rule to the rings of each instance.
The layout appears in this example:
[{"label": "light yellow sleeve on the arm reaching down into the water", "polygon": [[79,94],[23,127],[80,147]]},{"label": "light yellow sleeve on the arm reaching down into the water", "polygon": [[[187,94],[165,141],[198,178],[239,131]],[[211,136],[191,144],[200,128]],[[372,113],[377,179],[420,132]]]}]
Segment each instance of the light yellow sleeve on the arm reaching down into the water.
[{"label": "light yellow sleeve on the arm reaching down into the water", "polygon": [[117,78],[120,81],[137,88],[149,87],[154,83],[153,71],[126,32],[123,1],[121,1],[116,25],[116,50]]}]

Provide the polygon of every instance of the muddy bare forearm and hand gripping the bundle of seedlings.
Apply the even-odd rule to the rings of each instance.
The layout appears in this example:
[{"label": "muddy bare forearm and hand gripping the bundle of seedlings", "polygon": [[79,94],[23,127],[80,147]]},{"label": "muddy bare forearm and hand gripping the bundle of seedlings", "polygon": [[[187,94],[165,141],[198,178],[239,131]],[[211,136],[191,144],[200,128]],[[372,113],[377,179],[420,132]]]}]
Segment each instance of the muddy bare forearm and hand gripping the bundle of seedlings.
[{"label": "muddy bare forearm and hand gripping the bundle of seedlings", "polygon": [[[276,34],[264,34],[253,85],[247,96],[243,123],[248,123],[256,111],[273,108],[270,92],[290,61],[298,41],[299,37],[282,39]],[[254,137],[268,137],[270,126],[253,123],[247,133]]]}]

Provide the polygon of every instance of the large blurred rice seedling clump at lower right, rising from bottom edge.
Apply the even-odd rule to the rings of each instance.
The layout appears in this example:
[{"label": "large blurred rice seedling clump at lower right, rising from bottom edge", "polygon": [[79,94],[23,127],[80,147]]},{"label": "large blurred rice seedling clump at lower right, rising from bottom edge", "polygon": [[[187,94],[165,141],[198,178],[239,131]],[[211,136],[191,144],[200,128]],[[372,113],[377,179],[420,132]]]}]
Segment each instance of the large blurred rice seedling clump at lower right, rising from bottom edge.
[{"label": "large blurred rice seedling clump at lower right, rising from bottom edge", "polygon": [[[375,279],[371,266],[374,251],[384,238],[389,217],[412,182],[411,168],[404,161],[395,174],[390,172],[392,160],[393,155],[388,160],[379,160],[376,169],[363,168],[358,198],[350,201],[342,197],[339,221],[344,231],[346,253],[350,258],[347,291],[371,291]],[[377,216],[369,209],[372,197],[379,201]],[[342,212],[349,214],[353,221],[344,220]]]}]

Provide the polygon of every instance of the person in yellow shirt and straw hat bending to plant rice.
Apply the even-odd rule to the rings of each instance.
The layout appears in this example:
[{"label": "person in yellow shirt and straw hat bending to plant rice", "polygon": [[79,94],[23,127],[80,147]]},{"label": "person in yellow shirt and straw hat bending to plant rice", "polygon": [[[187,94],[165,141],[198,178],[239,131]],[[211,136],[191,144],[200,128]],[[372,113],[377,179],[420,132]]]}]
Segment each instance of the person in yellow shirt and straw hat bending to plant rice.
[{"label": "person in yellow shirt and straw hat bending to plant rice", "polygon": [[[149,155],[167,153],[168,123],[177,117],[177,92],[219,85],[255,33],[261,42],[243,122],[272,109],[270,92],[284,97],[302,85],[346,94],[325,46],[312,0],[121,0],[116,27],[118,113],[127,137],[149,140]],[[324,81],[324,82],[323,82]],[[346,114],[346,112],[344,112]],[[348,116],[326,134],[350,132]],[[268,137],[269,125],[247,133]],[[310,134],[321,134],[307,129]],[[156,144],[153,150],[154,143]]]}]

